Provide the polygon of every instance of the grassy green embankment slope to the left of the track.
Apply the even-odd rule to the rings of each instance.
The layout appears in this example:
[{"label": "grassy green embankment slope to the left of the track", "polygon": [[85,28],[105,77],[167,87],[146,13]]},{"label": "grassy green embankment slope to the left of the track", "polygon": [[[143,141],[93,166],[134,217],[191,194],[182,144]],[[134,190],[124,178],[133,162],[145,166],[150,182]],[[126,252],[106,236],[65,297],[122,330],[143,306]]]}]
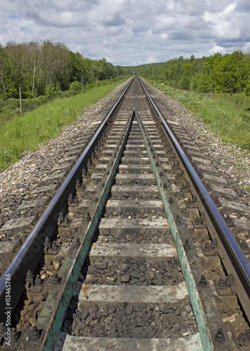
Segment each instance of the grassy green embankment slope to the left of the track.
[{"label": "grassy green embankment slope to the left of the track", "polygon": [[[18,161],[23,152],[37,150],[41,143],[59,135],[64,126],[77,120],[86,107],[104,98],[121,81],[92,88],[69,98],[56,98],[24,116],[15,117],[1,125],[0,130],[0,171]],[[0,121],[1,122],[1,121]]]}]

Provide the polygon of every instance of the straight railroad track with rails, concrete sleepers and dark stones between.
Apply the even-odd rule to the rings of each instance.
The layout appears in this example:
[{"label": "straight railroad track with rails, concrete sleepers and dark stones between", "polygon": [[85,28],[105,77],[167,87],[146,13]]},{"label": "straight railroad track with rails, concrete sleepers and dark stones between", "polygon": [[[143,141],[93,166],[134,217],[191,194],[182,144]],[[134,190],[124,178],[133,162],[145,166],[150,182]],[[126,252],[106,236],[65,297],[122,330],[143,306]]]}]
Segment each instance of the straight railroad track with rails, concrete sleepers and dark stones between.
[{"label": "straight railroad track with rails, concrete sleepers and dark stones between", "polygon": [[12,350],[249,347],[249,248],[235,241],[249,223],[230,231],[220,214],[247,208],[223,201],[181,126],[129,83],[3,274],[3,349],[8,336]]}]

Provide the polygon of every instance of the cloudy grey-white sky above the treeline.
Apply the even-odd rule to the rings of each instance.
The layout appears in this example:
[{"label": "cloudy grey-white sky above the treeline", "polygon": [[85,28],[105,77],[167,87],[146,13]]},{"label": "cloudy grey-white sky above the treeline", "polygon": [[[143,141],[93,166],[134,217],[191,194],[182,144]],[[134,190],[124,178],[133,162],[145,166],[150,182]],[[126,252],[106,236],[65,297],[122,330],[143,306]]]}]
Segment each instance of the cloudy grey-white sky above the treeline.
[{"label": "cloudy grey-white sky above the treeline", "polygon": [[1,0],[0,44],[60,41],[113,65],[250,48],[249,0]]}]

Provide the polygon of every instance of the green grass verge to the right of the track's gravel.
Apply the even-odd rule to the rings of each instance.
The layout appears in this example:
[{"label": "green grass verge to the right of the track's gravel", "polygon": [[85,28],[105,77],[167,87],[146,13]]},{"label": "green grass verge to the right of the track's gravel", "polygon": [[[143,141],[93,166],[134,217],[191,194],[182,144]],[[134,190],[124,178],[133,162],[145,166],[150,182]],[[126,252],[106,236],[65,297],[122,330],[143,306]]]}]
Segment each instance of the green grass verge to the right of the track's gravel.
[{"label": "green grass verge to the right of the track's gravel", "polygon": [[168,82],[146,79],[152,86],[171,95],[195,117],[208,124],[211,131],[220,135],[225,143],[231,143],[250,150],[250,112],[237,106],[237,99],[230,94],[191,93],[173,88]]}]

